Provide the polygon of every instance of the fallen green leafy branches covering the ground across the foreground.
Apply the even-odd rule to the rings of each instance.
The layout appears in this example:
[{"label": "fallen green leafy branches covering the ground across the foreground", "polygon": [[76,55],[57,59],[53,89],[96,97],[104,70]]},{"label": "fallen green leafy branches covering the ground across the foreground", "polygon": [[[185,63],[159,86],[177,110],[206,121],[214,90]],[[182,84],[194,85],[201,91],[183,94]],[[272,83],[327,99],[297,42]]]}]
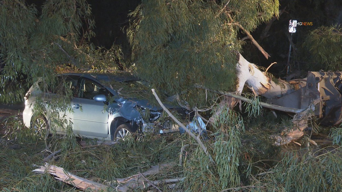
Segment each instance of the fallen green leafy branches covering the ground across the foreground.
[{"label": "fallen green leafy branches covering the ground across the foreground", "polygon": [[[208,138],[204,142],[215,164],[210,163],[202,148],[187,134],[145,133],[112,146],[80,147],[76,143],[70,147],[68,136],[44,138],[38,134],[33,139],[35,132],[29,132],[30,129],[22,126],[17,117],[11,117],[6,123],[6,129],[13,130],[12,134],[0,139],[0,163],[4,165],[0,170],[0,188],[18,191],[75,190],[49,174],[31,173],[35,168],[32,164],[42,165],[43,159],[50,154],[45,150],[48,143],[51,151],[62,149],[58,157],[49,160],[49,163],[83,178],[97,178],[96,181],[101,183],[144,172],[156,164],[181,162],[181,165],[173,167],[167,174],[150,175],[148,179],[185,177],[177,183],[174,191],[220,191],[226,188],[246,191],[341,189],[340,148],[330,147],[316,152],[309,148],[307,153],[305,151],[308,149],[304,148],[304,154],[286,152],[281,156],[280,147],[273,146],[274,141],[270,139],[275,131],[267,132],[269,127],[273,127],[269,123],[275,124],[276,119],[269,116],[271,112],[261,112],[260,115],[258,119],[263,121],[255,120],[257,123],[251,124],[253,127],[245,128],[245,124],[247,127],[250,123],[242,121],[236,111],[222,112],[215,123],[216,133],[212,134],[215,138]],[[32,137],[27,133],[32,133]],[[96,143],[94,140],[86,141]],[[41,185],[42,182],[45,184]],[[117,184],[112,183],[112,186]],[[158,187],[162,191],[170,191],[166,185]]]}]

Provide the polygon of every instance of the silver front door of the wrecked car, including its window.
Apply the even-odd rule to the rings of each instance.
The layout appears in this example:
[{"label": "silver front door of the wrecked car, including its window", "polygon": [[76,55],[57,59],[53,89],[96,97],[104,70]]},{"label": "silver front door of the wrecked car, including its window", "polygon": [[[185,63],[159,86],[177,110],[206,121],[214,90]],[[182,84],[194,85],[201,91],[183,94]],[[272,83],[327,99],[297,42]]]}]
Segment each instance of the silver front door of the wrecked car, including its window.
[{"label": "silver front door of the wrecked car, including its window", "polygon": [[108,137],[108,111],[105,102],[97,102],[94,96],[106,94],[106,89],[96,82],[81,78],[79,94],[73,99],[73,130],[76,136]]}]

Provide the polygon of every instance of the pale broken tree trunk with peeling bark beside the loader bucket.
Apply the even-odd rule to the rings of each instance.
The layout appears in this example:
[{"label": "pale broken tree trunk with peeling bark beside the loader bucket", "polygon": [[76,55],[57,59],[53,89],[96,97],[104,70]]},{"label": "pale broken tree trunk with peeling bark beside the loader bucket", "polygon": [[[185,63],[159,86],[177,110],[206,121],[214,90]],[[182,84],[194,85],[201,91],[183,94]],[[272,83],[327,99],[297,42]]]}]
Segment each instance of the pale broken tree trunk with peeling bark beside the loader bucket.
[{"label": "pale broken tree trunk with peeling bark beside the loader bucket", "polygon": [[[267,76],[266,72],[262,72],[256,65],[247,61],[240,53],[237,53],[237,58],[237,86],[235,94],[241,94],[246,84],[255,95],[262,95],[268,99],[275,99],[292,93],[299,87],[304,87],[306,85],[305,80],[287,82],[278,79],[277,82],[274,82]],[[216,116],[218,116],[223,110],[223,106],[233,108],[237,104],[238,99],[241,98],[234,96],[234,94],[225,94],[225,98],[219,103],[218,109],[216,109],[214,115],[209,119],[209,122],[213,123],[215,121]],[[267,105],[264,105],[264,107],[267,107]],[[274,106],[271,106],[269,108],[273,107]],[[308,111],[312,111],[312,108],[313,107],[308,107],[307,109],[300,111],[298,111],[298,109],[292,109],[292,111],[296,113],[292,120],[294,127],[291,127],[290,131],[285,131],[287,134],[286,137],[276,137],[276,144],[286,144],[302,137],[304,135],[303,131],[307,127],[307,120],[312,116],[312,113],[309,113]],[[284,108],[284,110],[282,110],[282,107],[278,106],[277,110],[286,111],[290,110],[290,108]],[[289,127],[285,127],[284,129],[289,130]]]}]

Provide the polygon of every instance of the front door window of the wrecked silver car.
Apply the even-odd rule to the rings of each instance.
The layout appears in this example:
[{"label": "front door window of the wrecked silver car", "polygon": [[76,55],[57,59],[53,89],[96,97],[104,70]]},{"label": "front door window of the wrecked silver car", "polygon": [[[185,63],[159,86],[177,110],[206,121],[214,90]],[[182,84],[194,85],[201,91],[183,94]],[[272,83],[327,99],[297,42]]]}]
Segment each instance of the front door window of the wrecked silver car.
[{"label": "front door window of the wrecked silver car", "polygon": [[89,80],[89,79],[82,79],[79,97],[84,99],[94,99],[96,95],[106,95],[106,89],[97,83]]}]

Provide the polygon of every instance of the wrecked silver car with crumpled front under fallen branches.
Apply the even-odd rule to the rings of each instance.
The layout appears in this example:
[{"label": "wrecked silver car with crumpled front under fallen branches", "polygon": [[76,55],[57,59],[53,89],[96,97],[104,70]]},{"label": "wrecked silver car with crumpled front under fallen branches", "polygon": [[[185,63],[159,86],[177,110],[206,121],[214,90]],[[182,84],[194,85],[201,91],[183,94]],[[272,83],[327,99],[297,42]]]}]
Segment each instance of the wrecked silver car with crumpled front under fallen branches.
[{"label": "wrecked silver car with crumpled front under fallen branches", "polygon": [[[161,119],[161,107],[153,106],[147,99],[130,98],[122,94],[124,87],[148,85],[126,73],[64,73],[59,76],[64,79],[67,88],[73,93],[70,106],[73,111],[62,111],[72,122],[72,129],[78,137],[114,140],[123,138],[133,132],[167,133],[181,131],[172,121],[158,121]],[[24,124],[47,127],[51,123],[49,110],[45,110],[39,118],[32,118],[33,107],[37,96],[42,93],[39,82],[32,86],[25,96],[23,111]],[[134,92],[134,91],[133,91]],[[136,93],[137,94],[137,93]],[[56,95],[53,90],[45,94],[46,98]],[[193,131],[205,130],[205,124],[200,118],[180,106],[166,105],[167,108],[187,116],[193,122],[187,126]],[[62,114],[61,114],[62,115]],[[156,127],[159,130],[154,130]],[[63,128],[54,127],[57,134],[65,134]]]}]

